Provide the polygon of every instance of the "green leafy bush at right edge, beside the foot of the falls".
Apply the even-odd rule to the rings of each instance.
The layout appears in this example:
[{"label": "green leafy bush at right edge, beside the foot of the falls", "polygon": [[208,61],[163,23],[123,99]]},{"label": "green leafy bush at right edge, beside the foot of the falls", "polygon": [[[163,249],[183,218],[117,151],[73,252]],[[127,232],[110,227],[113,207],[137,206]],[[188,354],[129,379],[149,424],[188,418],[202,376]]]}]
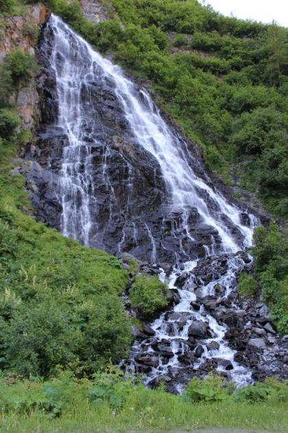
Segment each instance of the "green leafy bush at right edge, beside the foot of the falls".
[{"label": "green leafy bush at right edge, beside the foot of the falls", "polygon": [[256,227],[252,254],[263,299],[270,307],[280,332],[288,333],[288,236],[275,223]]}]

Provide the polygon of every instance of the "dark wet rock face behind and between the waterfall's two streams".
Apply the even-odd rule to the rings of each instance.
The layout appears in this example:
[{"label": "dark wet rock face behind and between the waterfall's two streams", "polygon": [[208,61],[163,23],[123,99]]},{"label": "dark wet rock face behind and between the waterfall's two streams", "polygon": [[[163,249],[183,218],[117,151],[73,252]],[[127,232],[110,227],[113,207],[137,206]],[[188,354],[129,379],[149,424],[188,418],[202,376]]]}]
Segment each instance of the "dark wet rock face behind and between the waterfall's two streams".
[{"label": "dark wet rock face behind and between the waterfall's two streams", "polygon": [[[63,41],[69,40],[70,45],[64,47],[61,41],[56,41],[57,32],[60,30],[53,29],[53,25],[46,25],[38,46],[38,62],[43,67],[37,81],[40,122],[36,142],[27,148],[25,155],[29,160],[25,167],[27,184],[38,218],[91,247],[116,255],[129,252],[141,260],[153,262],[157,258],[174,263],[175,260],[205,256],[207,248],[217,252],[221,247],[219,233],[213,224],[203,219],[196,205],[189,204],[188,210],[187,207],[171,207],[167,179],[164,180],[160,162],[144,146],[139,146],[139,137],[128,122],[115,80],[100,67],[99,71],[91,71],[96,66],[91,66],[84,45],[78,45],[73,35],[67,33]],[[67,83],[66,78],[62,78],[64,67],[70,68],[66,70],[67,76],[76,84],[63,97],[63,83]],[[71,75],[75,71],[79,76]],[[79,88],[77,82],[82,83]],[[142,98],[143,115],[145,104],[148,111],[154,110],[149,107],[152,102],[147,100],[141,87],[135,85],[133,91],[136,98]],[[149,115],[154,116],[152,122],[160,121],[156,111]],[[64,122],[63,118],[66,119]],[[69,126],[67,131],[69,118],[71,128]],[[168,119],[166,122],[175,146],[181,148],[193,173],[206,179],[204,166],[193,156],[197,154],[197,148],[184,142]],[[160,126],[158,131],[163,127],[166,126]],[[71,143],[75,134],[77,153],[67,155],[69,140]],[[73,185],[63,184],[63,179],[67,182],[68,177]],[[67,194],[69,189],[71,192]],[[187,193],[191,195],[190,190]],[[211,212],[218,218],[219,208],[209,198],[207,190],[197,186],[195,195],[198,194],[202,195],[203,212]],[[68,216],[63,207],[67,207],[67,203],[71,208]],[[87,210],[82,215],[84,206]],[[80,217],[73,223],[77,214]],[[67,229],[65,218],[74,225],[71,230]],[[249,225],[245,212],[241,218],[243,224]],[[80,221],[83,219],[89,220],[88,236]],[[235,222],[224,214],[221,219],[241,245],[243,234]]]}]

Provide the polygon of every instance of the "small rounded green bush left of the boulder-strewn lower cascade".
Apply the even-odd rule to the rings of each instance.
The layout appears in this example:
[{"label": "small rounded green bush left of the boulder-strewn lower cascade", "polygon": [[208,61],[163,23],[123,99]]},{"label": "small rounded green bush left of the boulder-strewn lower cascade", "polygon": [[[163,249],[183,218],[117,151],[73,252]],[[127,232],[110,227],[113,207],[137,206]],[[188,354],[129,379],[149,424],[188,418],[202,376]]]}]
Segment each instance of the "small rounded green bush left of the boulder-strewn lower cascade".
[{"label": "small rounded green bush left of the boulder-strewn lower cascade", "polygon": [[153,318],[155,313],[167,307],[166,293],[167,285],[160,282],[158,276],[136,277],[129,293],[132,308],[144,318]]}]

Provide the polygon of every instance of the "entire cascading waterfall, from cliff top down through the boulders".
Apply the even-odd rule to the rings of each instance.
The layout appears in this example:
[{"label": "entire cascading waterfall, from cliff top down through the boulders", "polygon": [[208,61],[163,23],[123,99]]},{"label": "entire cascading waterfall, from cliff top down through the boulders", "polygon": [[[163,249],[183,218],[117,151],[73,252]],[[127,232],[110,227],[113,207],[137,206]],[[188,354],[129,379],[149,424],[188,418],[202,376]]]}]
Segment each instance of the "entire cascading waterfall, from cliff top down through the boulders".
[{"label": "entire cascading waterfall, from cliff top down through the boulders", "polygon": [[[104,204],[103,200],[97,197],[97,180],[93,177],[95,162],[93,162],[94,151],[91,149],[99,146],[103,149],[101,181],[104,181],[106,190],[110,194],[107,205],[108,222],[113,218],[116,221],[113,209],[117,206],[119,196],[126,197],[125,206],[123,206],[125,216],[121,219],[121,212],[118,214],[114,212],[117,214],[119,227],[121,222],[119,241],[115,251],[120,254],[125,249],[125,245],[128,245],[125,242],[129,237],[128,228],[130,226],[131,242],[135,251],[138,251],[137,248],[141,243],[139,233],[142,230],[151,245],[147,258],[157,263],[161,249],[165,249],[167,245],[167,241],[163,240],[165,221],[170,221],[171,238],[179,241],[178,251],[175,251],[173,263],[175,267],[172,274],[169,278],[162,274],[162,278],[168,279],[169,286],[173,288],[178,276],[184,272],[189,273],[187,282],[180,289],[178,288],[180,302],[173,311],[161,315],[152,324],[155,332],[153,341],[146,339],[141,343],[135,342],[132,348],[134,358],[139,357],[143,350],[148,354],[158,351],[158,355],[154,356],[154,364],[146,368],[149,373],[148,380],[167,375],[169,368],[179,370],[183,367],[181,356],[187,351],[189,326],[195,321],[200,321],[205,322],[209,335],[197,338],[197,341],[202,343],[202,354],[196,360],[191,360],[189,368],[193,367],[195,370],[205,359],[218,358],[220,361],[217,368],[223,370],[221,362],[225,365],[224,361],[230,360],[232,367],[229,366],[229,368],[232,371],[232,377],[239,383],[249,381],[249,372],[233,361],[234,352],[224,342],[226,326],[220,325],[208,313],[208,309],[203,303],[201,304],[201,301],[199,311],[191,307],[191,302],[196,299],[193,269],[197,267],[198,257],[195,251],[191,257],[189,249],[185,249],[183,245],[189,244],[193,249],[196,242],[197,230],[193,232],[193,227],[189,222],[194,212],[202,230],[206,230],[202,238],[204,239],[202,247],[205,252],[202,257],[214,254],[218,256],[226,254],[227,256],[224,274],[208,283],[203,282],[201,278],[197,280],[197,291],[201,293],[202,298],[215,295],[217,285],[223,288],[217,300],[220,305],[227,299],[230,292],[235,290],[237,273],[239,274],[239,271],[245,267],[245,261],[236,253],[251,244],[256,219],[237,206],[228,203],[219,191],[208,185],[211,182],[205,174],[202,176],[197,174],[197,166],[201,166],[201,163],[191,155],[187,144],[165,122],[145,89],[139,89],[118,66],[95,52],[84,39],[75,34],[57,16],[51,15],[47,27],[53,35],[49,63],[56,79],[58,98],[56,126],[68,139],[67,145],[62,150],[62,166],[58,173],[60,180],[57,191],[62,205],[61,230],[63,234],[76,238],[86,245],[95,245],[92,239],[97,239],[97,236],[102,239],[107,236],[107,233],[104,236],[105,232],[101,232],[100,236],[99,215],[101,206]],[[141,149],[149,159],[154,161],[155,175],[159,172],[163,179],[165,199],[161,206],[164,214],[164,228],[163,238],[160,240],[156,238],[156,233],[152,230],[147,218],[141,221],[130,206],[134,188],[134,168],[128,157],[121,155],[128,176],[126,190],[122,190],[120,194],[117,193],[117,188],[110,181],[107,161],[112,158],[113,154],[105,140],[99,139],[102,126],[97,119],[97,112],[93,111],[95,96],[91,93],[91,89],[99,82],[109,83],[113,97],[116,97],[119,104],[119,110],[125,116],[125,122],[122,123],[127,125],[125,126],[126,131],[132,137],[134,148]],[[123,147],[125,147],[124,144]],[[149,212],[146,213],[146,216],[147,214],[149,216]],[[175,215],[179,216],[176,222]],[[182,238],[184,236],[184,243],[180,235]],[[111,249],[111,252],[115,251]],[[133,252],[133,249],[130,251]],[[179,259],[181,254],[182,258]],[[183,257],[186,257],[186,263],[182,263],[182,270],[180,270],[179,261],[183,262]],[[235,304],[232,304],[232,308],[236,309]],[[183,322],[181,326],[179,322]],[[217,344],[214,344],[213,349],[209,349],[212,341]],[[166,351],[166,355],[168,352],[169,355],[161,357],[157,344],[169,347],[169,350]],[[139,364],[137,366],[134,361],[132,364],[132,368],[140,370]]]}]

